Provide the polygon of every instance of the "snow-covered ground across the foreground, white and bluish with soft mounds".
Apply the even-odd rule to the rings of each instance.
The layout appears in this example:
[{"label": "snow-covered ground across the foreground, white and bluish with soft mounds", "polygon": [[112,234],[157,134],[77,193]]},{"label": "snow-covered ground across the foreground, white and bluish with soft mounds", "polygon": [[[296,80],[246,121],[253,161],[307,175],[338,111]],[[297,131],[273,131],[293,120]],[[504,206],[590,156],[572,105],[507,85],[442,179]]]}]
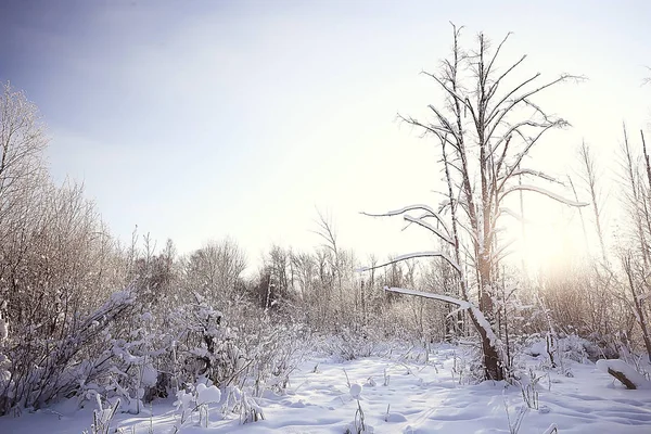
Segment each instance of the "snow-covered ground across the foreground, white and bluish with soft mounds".
[{"label": "snow-covered ground across the foreground, white and bluish with soft mounds", "polygon": [[[396,356],[346,362],[312,358],[292,376],[286,394],[267,393],[258,399],[265,420],[240,424],[238,414],[224,417],[221,405],[215,405],[207,427],[187,423],[180,433],[342,434],[352,427],[358,409],[348,381],[362,386],[359,406],[367,432],[509,433],[519,409],[526,407],[521,387],[492,382],[467,385],[463,376],[460,384],[459,373],[455,372],[458,354],[457,348],[439,346],[429,363]],[[535,386],[538,410],[526,411],[520,433],[542,434],[552,424],[560,434],[651,433],[651,391],[628,391],[591,362],[565,361],[565,371],[571,370],[573,376],[542,370],[542,357],[527,356],[525,360],[535,369],[533,374],[540,376]],[[528,380],[527,373],[523,384]],[[356,390],[354,386],[353,395]],[[222,400],[226,395],[221,394]],[[532,404],[534,395],[531,390]],[[112,426],[124,433],[174,432],[178,411],[173,401],[157,401],[139,416],[118,413]],[[0,433],[80,434],[91,424],[94,404],[87,403],[87,408],[80,410],[76,405],[76,400],[69,400],[20,418],[2,417]],[[197,414],[194,420],[199,420]]]}]

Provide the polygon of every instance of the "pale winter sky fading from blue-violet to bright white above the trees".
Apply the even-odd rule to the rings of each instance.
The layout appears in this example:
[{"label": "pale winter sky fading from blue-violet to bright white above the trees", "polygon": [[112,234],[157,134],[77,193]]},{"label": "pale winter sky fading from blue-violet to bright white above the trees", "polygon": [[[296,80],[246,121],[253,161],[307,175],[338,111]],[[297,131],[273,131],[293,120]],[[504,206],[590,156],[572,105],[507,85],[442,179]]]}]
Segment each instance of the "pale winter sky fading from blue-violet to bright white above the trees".
[{"label": "pale winter sky fading from blue-violet to bright white above the trees", "polygon": [[[585,140],[608,180],[622,123],[637,137],[651,119],[649,16],[646,1],[3,0],[0,80],[39,106],[54,180],[84,182],[123,240],[138,225],[187,253],[230,237],[255,261],[319,244],[320,209],[340,245],[383,256],[434,245],[359,212],[439,201],[436,144],[396,114],[441,101],[419,73],[449,53],[450,21],[469,46],[512,31],[505,62],[526,53],[528,73],[589,78],[540,98],[573,128],[536,168],[571,173]],[[531,206],[558,251],[576,215]]]}]

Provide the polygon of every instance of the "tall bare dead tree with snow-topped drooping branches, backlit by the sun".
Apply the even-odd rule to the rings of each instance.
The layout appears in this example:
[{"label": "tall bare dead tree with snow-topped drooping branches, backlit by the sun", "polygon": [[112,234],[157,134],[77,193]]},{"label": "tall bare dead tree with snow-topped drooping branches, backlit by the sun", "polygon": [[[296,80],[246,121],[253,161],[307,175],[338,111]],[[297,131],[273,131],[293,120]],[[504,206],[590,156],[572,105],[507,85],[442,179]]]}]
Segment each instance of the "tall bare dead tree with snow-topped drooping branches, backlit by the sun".
[{"label": "tall bare dead tree with snow-topped drooping branches, backlit by the sun", "polygon": [[[570,206],[587,205],[536,184],[537,181],[554,179],[524,165],[525,157],[547,131],[569,125],[564,119],[546,113],[532,99],[546,89],[580,77],[562,74],[539,84],[540,74],[536,73],[509,86],[512,73],[526,59],[523,55],[509,67],[498,69],[497,61],[509,35],[495,50],[490,50],[488,40],[480,34],[476,51],[467,52],[459,46],[460,29],[454,25],[452,28],[451,56],[442,62],[438,74],[423,73],[443,91],[444,101],[427,106],[431,112],[429,122],[398,115],[423,136],[438,139],[448,184],[448,197],[443,208],[449,213],[437,213],[427,205],[412,205],[373,216],[401,215],[409,224],[429,230],[451,247],[454,257],[442,250],[403,255],[392,263],[438,256],[456,270],[460,277],[460,298],[426,296],[468,309],[481,337],[485,378],[501,380],[506,366],[493,327],[493,297],[496,295],[495,270],[506,254],[506,246],[498,240],[497,222],[503,215],[518,217],[505,203],[514,192],[538,193]],[[521,176],[529,181],[516,182]],[[410,215],[410,212],[421,214]],[[470,257],[468,266],[471,272],[468,276],[464,272],[467,264],[462,264],[462,253],[465,257],[465,252]],[[473,291],[476,292],[478,307],[471,299]]]}]

